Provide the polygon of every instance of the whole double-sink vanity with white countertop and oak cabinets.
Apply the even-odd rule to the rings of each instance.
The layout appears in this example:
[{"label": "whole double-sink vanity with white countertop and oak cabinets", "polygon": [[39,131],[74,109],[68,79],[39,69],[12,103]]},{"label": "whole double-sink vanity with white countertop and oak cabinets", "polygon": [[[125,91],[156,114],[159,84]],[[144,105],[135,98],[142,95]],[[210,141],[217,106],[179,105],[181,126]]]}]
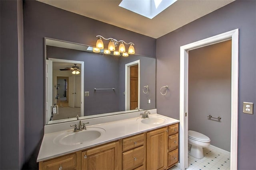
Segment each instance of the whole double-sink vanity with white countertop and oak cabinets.
[{"label": "whole double-sink vanity with white countertop and oak cabinets", "polygon": [[[147,118],[142,118],[145,111],[136,111],[46,125],[39,169],[170,168],[178,162],[179,121],[157,114],[156,109],[149,111]],[[78,127],[79,122],[85,127],[74,132],[70,125]]]}]

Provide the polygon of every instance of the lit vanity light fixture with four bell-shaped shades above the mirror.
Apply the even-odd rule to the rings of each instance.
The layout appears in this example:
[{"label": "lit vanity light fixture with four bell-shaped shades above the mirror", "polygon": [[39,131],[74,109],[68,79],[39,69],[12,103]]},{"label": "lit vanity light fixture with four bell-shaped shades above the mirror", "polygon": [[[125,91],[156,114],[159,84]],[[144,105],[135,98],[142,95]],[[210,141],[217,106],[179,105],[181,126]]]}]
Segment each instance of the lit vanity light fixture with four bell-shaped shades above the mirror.
[{"label": "lit vanity light fixture with four bell-shaped shades above the mirror", "polygon": [[[93,52],[95,52],[95,53],[100,52],[100,49],[104,49],[104,44],[103,44],[102,39],[110,40],[109,43],[108,43],[108,50],[109,51],[114,51],[114,55],[117,55],[115,50],[116,50],[116,47],[118,46],[118,43],[120,43],[119,48],[118,48],[118,51],[119,51],[118,55],[120,55],[120,53],[125,53],[126,52],[124,44],[130,45],[130,46],[129,46],[129,49],[128,49],[128,53],[124,54],[123,56],[127,57],[128,54],[134,54],[135,53],[134,43],[126,43],[123,40],[118,41],[114,38],[104,38],[101,35],[97,35],[96,37],[98,38],[97,42],[96,42],[96,49],[98,49],[98,50],[96,50],[96,49],[95,49],[95,51],[93,50]],[[107,54],[107,53],[105,53],[105,54]]]}]

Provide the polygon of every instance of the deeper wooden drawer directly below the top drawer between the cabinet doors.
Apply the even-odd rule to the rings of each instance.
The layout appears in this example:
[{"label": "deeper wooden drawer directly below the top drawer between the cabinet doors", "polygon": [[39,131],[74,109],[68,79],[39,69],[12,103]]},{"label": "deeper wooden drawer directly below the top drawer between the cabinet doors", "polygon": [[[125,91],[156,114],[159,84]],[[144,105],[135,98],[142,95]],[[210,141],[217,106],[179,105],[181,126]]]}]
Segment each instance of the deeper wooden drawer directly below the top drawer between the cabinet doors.
[{"label": "deeper wooden drawer directly below the top drawer between the cabinet doors", "polygon": [[123,170],[131,170],[143,165],[144,146],[123,153]]}]

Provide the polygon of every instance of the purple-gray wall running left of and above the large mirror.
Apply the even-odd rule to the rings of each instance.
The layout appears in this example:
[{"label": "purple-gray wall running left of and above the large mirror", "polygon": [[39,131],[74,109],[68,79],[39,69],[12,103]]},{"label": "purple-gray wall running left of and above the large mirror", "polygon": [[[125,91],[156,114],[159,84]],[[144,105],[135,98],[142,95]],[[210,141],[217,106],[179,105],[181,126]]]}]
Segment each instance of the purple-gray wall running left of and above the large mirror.
[{"label": "purple-gray wall running left of and above the large mirror", "polygon": [[155,57],[156,39],[38,1],[23,1],[23,20],[26,113],[24,167],[36,169],[40,140],[44,134],[44,37],[91,46],[95,46],[96,35],[113,37],[133,42],[137,54],[150,57]]}]

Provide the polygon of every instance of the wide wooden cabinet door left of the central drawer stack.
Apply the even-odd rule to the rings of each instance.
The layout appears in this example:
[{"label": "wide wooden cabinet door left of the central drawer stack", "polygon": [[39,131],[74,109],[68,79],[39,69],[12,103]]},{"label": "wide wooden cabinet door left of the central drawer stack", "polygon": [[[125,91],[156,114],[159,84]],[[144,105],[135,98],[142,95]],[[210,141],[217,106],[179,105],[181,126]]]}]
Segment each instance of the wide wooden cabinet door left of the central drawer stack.
[{"label": "wide wooden cabinet door left of the central drawer stack", "polygon": [[82,170],[119,170],[119,142],[82,152]]}]

